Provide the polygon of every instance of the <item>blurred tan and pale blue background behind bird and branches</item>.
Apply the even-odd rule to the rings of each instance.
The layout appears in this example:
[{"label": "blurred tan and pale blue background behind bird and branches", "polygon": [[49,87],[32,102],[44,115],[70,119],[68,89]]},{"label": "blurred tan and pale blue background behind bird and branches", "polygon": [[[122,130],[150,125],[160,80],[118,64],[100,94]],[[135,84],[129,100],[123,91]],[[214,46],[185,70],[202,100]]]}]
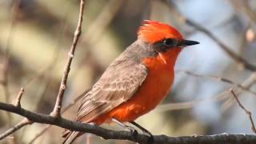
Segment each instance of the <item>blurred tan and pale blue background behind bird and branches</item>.
[{"label": "blurred tan and pale blue background behind bird and branches", "polygon": [[[1,102],[11,102],[23,86],[22,106],[50,113],[77,24],[78,6],[78,0],[0,1]],[[152,19],[176,27],[185,38],[201,44],[182,51],[171,93],[162,106],[138,118],[137,122],[153,134],[170,136],[252,133],[249,118],[229,89],[234,88],[241,102],[256,115],[255,74],[234,62],[206,34],[187,25],[185,18],[204,26],[230,50],[256,65],[255,9],[254,0],[86,1],[82,36],[72,63],[64,106],[90,88],[106,66],[136,40],[136,30],[143,19]],[[9,59],[8,69],[6,59]],[[194,77],[181,70],[228,78],[253,92],[240,90],[219,78]],[[77,109],[78,104],[63,116],[73,119]],[[0,132],[8,129],[8,123],[14,125],[20,119],[14,114],[8,118],[0,111]],[[26,126],[15,133],[14,142],[28,143],[44,127],[42,124]],[[52,126],[34,143],[60,143],[61,132],[61,128]],[[78,143],[86,141],[86,137],[79,139]],[[0,143],[8,142],[12,142],[12,138]],[[130,143],[91,137],[91,143],[99,142]]]}]

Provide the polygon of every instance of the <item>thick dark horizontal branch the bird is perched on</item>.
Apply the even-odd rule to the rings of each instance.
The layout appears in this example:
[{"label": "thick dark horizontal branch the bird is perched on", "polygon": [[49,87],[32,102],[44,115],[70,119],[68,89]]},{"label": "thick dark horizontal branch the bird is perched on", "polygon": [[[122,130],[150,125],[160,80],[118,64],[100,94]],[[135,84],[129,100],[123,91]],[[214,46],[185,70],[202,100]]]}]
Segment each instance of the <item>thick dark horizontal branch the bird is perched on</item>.
[{"label": "thick dark horizontal branch the bird is perched on", "polygon": [[[85,133],[96,134],[105,139],[130,140],[138,143],[148,143],[149,137],[146,134],[134,136],[130,131],[107,130],[100,126],[92,126],[86,123],[73,122],[66,118],[54,118],[46,114],[37,114],[30,110],[25,110],[10,104],[0,102],[0,110],[6,110],[28,118],[31,122],[46,123],[54,126],[60,126],[65,129],[82,131]],[[166,135],[155,135],[153,143],[248,143],[256,142],[256,136],[253,134],[217,134],[209,136],[182,136],[168,137]]]}]

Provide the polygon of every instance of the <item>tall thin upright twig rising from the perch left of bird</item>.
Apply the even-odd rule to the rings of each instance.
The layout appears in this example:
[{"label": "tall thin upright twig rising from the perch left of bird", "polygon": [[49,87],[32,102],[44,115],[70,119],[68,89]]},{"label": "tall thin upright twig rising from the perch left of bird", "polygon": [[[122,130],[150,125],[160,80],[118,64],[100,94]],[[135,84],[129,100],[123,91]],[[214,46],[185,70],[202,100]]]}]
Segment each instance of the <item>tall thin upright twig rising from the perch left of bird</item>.
[{"label": "tall thin upright twig rising from the perch left of bird", "polygon": [[61,116],[60,113],[61,113],[61,109],[62,109],[62,98],[63,98],[63,95],[66,90],[66,82],[67,82],[68,75],[70,73],[71,62],[74,58],[74,50],[78,44],[78,39],[82,33],[82,15],[83,15],[84,6],[85,6],[85,0],[81,0],[80,1],[80,12],[79,12],[79,17],[78,17],[78,26],[74,32],[73,44],[72,44],[72,46],[70,48],[70,52],[68,54],[68,59],[66,62],[66,66],[64,68],[64,74],[62,76],[62,82],[61,82],[61,85],[58,90],[58,96],[56,99],[54,110],[51,113],[51,115],[54,116],[55,118],[59,118]]}]

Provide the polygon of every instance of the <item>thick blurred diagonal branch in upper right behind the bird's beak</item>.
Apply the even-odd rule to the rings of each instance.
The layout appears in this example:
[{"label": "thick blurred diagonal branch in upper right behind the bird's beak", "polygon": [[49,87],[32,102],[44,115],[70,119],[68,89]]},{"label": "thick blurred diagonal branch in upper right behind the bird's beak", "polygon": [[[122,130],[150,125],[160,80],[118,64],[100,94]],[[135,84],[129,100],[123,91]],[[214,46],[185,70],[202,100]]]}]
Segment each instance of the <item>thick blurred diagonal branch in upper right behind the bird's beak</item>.
[{"label": "thick blurred diagonal branch in upper right behind the bird's beak", "polygon": [[173,1],[167,2],[166,0],[162,0],[162,2],[166,3],[166,5],[170,7],[170,10],[174,11],[175,14],[177,14],[179,16],[179,18],[182,21],[184,21],[187,25],[193,26],[196,30],[201,31],[203,34],[206,34],[209,38],[211,38],[214,42],[216,42],[216,44],[218,44],[218,46],[220,48],[222,48],[222,50],[224,50],[226,52],[226,54],[228,54],[230,56],[230,58],[233,58],[234,61],[238,63],[238,66],[240,68],[242,68],[242,69],[245,68],[247,70],[256,71],[256,66],[252,65],[250,62],[247,62],[246,59],[244,59],[244,58],[240,57],[238,54],[234,53],[234,51],[232,51],[229,46],[226,46],[217,37],[215,37],[214,34],[212,34],[209,30],[206,30],[205,27],[192,21],[190,18],[187,18],[186,16],[182,15],[179,12],[178,7],[175,6]]}]

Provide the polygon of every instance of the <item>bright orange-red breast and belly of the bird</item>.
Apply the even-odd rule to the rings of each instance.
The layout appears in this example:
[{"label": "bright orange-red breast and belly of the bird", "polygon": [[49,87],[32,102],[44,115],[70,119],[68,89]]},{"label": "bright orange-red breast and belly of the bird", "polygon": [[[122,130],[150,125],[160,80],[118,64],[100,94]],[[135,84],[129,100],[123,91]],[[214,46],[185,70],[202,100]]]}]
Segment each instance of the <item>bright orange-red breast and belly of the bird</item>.
[{"label": "bright orange-red breast and belly of the bird", "polygon": [[115,118],[119,122],[134,121],[139,116],[153,110],[166,97],[174,80],[174,66],[168,65],[170,64],[168,62],[159,64],[155,58],[146,59],[144,62],[149,63],[146,63],[149,72],[136,94],[127,102],[95,118],[93,122],[99,125],[110,118]]}]

